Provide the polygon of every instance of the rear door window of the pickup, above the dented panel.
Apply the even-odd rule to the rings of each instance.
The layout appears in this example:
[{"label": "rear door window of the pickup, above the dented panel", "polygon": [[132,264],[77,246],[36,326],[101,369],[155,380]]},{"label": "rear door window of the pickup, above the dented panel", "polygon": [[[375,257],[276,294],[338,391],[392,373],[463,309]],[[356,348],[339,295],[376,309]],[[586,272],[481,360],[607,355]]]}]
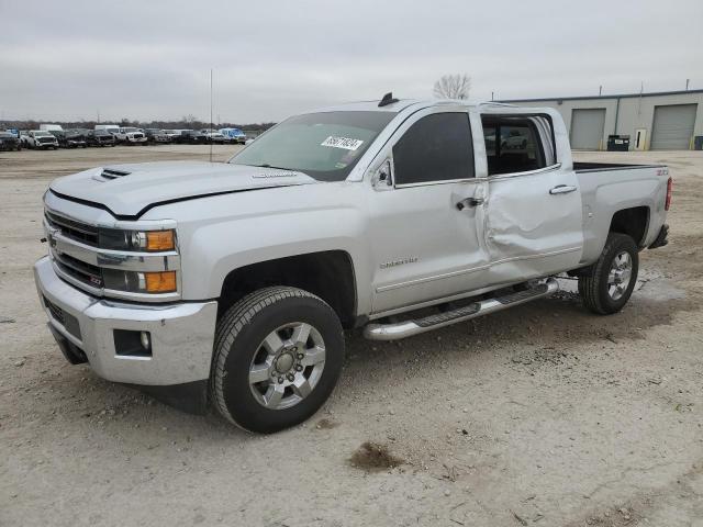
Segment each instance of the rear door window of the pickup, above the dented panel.
[{"label": "rear door window of the pickup, above the dented panel", "polygon": [[[483,115],[489,176],[526,172],[548,166],[536,122],[544,117]],[[544,124],[544,123],[543,123]],[[551,130],[550,123],[548,128]]]}]

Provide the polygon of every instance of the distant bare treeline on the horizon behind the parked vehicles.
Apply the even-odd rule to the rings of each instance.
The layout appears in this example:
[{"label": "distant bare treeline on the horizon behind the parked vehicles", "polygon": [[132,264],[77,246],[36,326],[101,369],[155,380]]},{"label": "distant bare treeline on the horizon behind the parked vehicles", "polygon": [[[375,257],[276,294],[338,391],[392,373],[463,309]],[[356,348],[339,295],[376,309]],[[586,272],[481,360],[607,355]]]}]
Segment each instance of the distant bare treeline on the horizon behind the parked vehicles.
[{"label": "distant bare treeline on the horizon behind the parked vehicles", "polygon": [[[0,121],[0,130],[18,128],[18,130],[38,130],[40,124],[60,124],[64,130],[67,128],[88,128],[92,130],[96,124],[116,124],[119,126],[135,126],[137,128],[164,128],[164,130],[202,130],[209,128],[210,123],[199,121],[196,117],[189,115],[182,117],[180,121],[130,121],[123,119],[121,121],[103,121],[98,123],[97,121]],[[214,128],[241,128],[247,132],[261,133],[276,123],[250,123],[250,124],[236,124],[236,123],[217,123],[213,124]]]}]

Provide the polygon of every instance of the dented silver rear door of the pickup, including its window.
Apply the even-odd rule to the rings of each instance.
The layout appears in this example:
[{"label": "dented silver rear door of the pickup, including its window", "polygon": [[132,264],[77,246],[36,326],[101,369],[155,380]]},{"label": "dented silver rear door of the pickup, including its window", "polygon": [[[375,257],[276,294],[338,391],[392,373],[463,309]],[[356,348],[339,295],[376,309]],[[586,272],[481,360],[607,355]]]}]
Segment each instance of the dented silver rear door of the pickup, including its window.
[{"label": "dented silver rear door of the pickup, including its window", "polygon": [[581,192],[558,162],[548,115],[483,114],[489,170],[486,245],[492,284],[578,267]]}]

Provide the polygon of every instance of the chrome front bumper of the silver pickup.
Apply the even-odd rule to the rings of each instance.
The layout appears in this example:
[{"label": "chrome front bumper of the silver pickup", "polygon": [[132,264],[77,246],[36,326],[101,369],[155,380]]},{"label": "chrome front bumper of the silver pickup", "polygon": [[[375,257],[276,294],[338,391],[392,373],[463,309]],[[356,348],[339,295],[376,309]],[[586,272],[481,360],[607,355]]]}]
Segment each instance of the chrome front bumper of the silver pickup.
[{"label": "chrome front bumper of the silver pickup", "polygon": [[[216,302],[136,304],[98,299],[58,278],[48,257],[34,265],[34,279],[62,350],[66,354],[70,343],[69,350],[79,357],[78,351],[85,354],[103,379],[167,386],[210,377]],[[119,355],[115,329],[149,332],[150,356]]]}]

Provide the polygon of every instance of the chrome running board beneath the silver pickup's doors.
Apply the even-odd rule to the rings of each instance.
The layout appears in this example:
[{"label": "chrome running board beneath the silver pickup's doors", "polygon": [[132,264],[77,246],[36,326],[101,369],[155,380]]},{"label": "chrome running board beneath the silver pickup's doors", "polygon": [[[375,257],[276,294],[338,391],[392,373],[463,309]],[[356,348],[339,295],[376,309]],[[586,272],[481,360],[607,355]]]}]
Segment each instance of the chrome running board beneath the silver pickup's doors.
[{"label": "chrome running board beneath the silver pickup's doors", "polygon": [[364,327],[364,336],[371,340],[398,340],[412,337],[413,335],[456,324],[457,322],[469,321],[514,305],[524,304],[531,300],[543,299],[556,293],[558,290],[559,283],[554,278],[549,278],[546,282],[525,291],[482,300],[445,313],[395,324],[367,324]]}]

